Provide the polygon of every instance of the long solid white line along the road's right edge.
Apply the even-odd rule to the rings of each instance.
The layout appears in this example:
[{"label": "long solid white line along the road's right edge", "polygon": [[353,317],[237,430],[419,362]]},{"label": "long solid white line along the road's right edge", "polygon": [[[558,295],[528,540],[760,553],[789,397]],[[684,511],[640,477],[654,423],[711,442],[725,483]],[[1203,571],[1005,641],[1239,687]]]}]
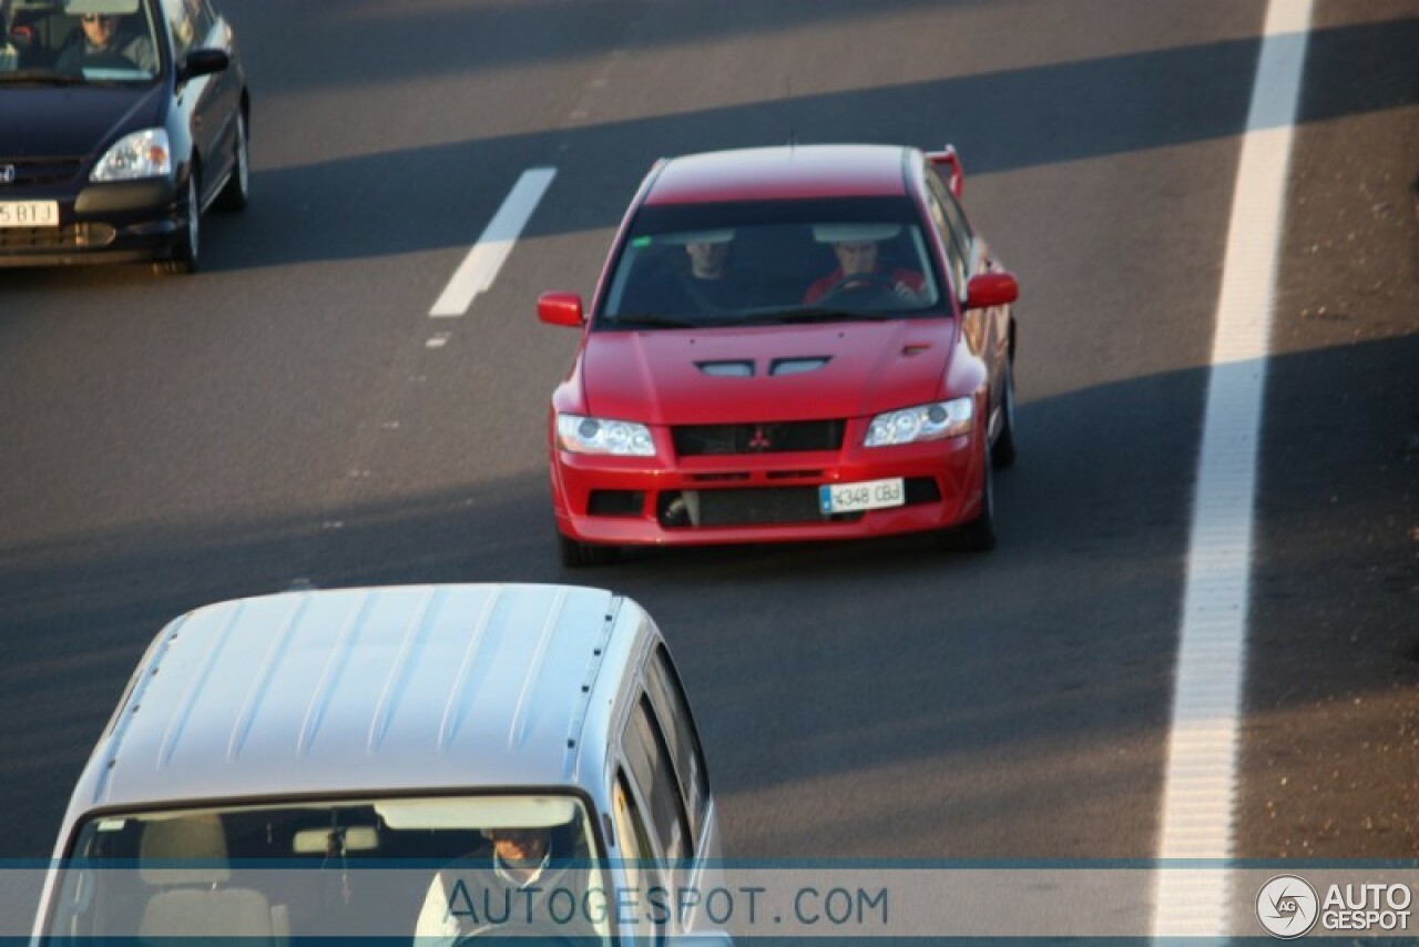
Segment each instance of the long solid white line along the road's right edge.
[{"label": "long solid white line along the road's right edge", "polygon": [[[1229,890],[1237,724],[1246,672],[1257,440],[1286,216],[1293,125],[1313,0],[1271,0],[1227,229],[1198,459],[1159,819],[1159,859],[1208,859],[1158,876],[1154,934],[1218,936]],[[1242,897],[1246,894],[1246,897]]]}]

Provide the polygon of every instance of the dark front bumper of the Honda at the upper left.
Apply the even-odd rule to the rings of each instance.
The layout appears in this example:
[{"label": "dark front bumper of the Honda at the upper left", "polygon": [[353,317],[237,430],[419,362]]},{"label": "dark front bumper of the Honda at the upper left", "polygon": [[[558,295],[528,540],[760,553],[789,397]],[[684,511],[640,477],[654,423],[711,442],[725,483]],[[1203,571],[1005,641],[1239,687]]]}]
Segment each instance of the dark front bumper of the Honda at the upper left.
[{"label": "dark front bumper of the Honda at the upper left", "polygon": [[89,185],[78,193],[6,190],[4,200],[57,200],[57,227],[0,227],[0,267],[166,260],[187,203],[172,180]]}]

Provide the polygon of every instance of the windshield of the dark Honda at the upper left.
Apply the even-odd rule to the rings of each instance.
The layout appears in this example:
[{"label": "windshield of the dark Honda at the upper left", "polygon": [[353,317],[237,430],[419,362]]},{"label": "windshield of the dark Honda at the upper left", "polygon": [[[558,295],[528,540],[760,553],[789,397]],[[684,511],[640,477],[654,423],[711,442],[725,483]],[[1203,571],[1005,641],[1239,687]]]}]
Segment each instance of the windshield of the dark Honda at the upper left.
[{"label": "windshield of the dark Honda at the upper left", "polygon": [[0,84],[149,82],[159,33],[142,0],[0,0]]}]

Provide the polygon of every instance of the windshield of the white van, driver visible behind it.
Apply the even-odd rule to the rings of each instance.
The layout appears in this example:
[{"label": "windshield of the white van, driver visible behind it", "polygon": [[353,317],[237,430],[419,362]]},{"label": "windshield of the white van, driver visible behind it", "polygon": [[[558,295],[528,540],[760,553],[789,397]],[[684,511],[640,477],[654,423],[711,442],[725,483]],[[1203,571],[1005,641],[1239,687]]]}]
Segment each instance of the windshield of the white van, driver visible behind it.
[{"label": "windshield of the white van, driver visible behind it", "polygon": [[592,825],[551,794],[106,814],[79,826],[47,931],[604,941]]}]

